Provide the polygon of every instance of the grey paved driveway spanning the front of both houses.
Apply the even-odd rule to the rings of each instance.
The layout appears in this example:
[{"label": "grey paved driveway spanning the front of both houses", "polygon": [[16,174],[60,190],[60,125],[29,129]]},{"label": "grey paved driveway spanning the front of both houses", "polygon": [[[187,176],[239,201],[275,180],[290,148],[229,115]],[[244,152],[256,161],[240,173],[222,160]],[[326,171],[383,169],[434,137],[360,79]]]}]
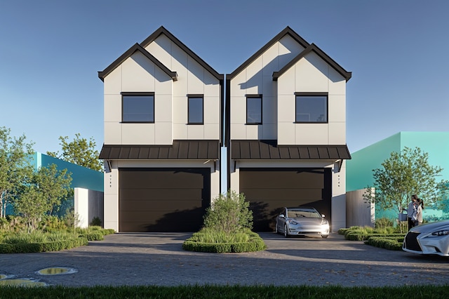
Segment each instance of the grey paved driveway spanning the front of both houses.
[{"label": "grey paved driveway spanning the front of both houses", "polygon": [[[67,251],[0,254],[0,274],[65,286],[449,284],[449,258],[388,251],[339,234],[285,239],[262,232],[266,251],[225,254],[183,251],[190,235],[120,233]],[[47,267],[78,272],[36,274]]]}]

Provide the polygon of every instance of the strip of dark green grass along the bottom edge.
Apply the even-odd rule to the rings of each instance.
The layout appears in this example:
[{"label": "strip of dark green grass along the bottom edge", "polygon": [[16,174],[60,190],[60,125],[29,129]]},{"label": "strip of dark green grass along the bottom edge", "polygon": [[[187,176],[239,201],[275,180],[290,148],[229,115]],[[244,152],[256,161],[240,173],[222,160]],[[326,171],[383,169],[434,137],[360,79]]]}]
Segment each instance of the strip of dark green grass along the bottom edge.
[{"label": "strip of dark green grass along the bottom edge", "polygon": [[445,286],[93,286],[0,287],[0,298],[447,298]]}]

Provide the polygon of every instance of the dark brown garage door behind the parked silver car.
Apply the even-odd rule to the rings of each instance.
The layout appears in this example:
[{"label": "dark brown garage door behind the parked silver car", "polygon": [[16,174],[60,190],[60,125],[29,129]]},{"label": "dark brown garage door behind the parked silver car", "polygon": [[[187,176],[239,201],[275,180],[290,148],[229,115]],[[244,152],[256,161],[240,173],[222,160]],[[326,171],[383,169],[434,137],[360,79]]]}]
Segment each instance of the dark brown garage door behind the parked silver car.
[{"label": "dark brown garage door behind the parked silver car", "polygon": [[330,221],[330,168],[240,168],[240,192],[253,210],[254,230],[274,230],[284,206],[313,206]]}]

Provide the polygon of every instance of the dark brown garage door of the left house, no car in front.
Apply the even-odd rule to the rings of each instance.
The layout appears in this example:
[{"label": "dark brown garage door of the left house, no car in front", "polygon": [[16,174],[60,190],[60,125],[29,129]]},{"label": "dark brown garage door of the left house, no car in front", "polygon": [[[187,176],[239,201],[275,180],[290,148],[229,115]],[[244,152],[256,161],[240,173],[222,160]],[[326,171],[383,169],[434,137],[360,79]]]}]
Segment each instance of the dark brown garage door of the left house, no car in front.
[{"label": "dark brown garage door of the left house, no car in front", "polygon": [[120,232],[196,232],[210,206],[209,168],[120,168]]}]

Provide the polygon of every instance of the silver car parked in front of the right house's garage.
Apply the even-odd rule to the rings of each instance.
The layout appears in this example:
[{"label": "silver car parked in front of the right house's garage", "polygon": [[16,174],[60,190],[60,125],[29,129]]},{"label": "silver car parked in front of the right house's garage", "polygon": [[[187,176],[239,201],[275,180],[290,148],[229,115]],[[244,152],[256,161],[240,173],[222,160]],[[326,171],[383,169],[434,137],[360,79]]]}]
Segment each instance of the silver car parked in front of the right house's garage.
[{"label": "silver car parked in front of the right house's garage", "polygon": [[329,237],[329,222],[315,208],[283,208],[276,217],[274,230],[286,238],[293,235],[311,234],[321,234],[321,237],[327,238]]}]

